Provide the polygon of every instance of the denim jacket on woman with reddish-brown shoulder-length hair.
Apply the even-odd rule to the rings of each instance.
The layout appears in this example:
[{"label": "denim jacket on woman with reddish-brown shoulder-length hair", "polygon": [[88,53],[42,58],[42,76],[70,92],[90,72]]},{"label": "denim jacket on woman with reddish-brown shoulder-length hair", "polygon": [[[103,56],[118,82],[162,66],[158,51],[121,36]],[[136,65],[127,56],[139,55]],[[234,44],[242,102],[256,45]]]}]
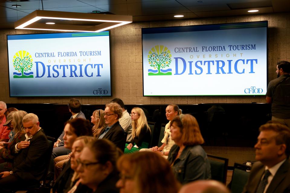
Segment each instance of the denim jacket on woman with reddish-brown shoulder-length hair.
[{"label": "denim jacket on woman with reddish-brown shoulder-length hair", "polygon": [[[168,156],[169,163],[175,160],[179,146],[174,145]],[[211,165],[200,145],[186,146],[172,166],[176,179],[186,184],[198,179],[211,179]]]}]

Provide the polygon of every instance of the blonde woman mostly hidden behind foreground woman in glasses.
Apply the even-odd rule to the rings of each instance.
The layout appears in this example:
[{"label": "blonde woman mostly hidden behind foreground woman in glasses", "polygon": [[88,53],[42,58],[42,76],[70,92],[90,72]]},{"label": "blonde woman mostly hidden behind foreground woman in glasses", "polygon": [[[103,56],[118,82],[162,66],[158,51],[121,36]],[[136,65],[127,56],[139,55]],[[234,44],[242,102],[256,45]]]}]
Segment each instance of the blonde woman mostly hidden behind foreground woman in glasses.
[{"label": "blonde woman mostly hidden behind foreground woman in glasses", "polygon": [[[74,171],[70,186],[68,190],[63,190],[63,192],[66,193],[73,193],[76,191],[79,185],[79,173],[76,171],[78,167],[77,160],[79,159],[79,155],[82,151],[82,149],[85,147],[85,145],[91,143],[94,141],[95,137],[90,136],[81,136],[76,138],[76,140],[72,144],[72,153],[70,154],[70,168]],[[79,188],[78,191],[85,192],[86,189]]]}]

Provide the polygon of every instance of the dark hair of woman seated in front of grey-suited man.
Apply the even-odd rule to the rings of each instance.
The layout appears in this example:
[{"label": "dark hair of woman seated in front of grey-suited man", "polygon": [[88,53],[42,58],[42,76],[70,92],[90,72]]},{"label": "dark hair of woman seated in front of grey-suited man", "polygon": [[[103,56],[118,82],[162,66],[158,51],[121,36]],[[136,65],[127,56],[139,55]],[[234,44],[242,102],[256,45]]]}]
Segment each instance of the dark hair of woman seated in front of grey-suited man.
[{"label": "dark hair of woman seated in front of grey-suited man", "polygon": [[78,137],[83,135],[93,136],[92,124],[88,120],[75,118],[67,121],[66,124],[70,125],[71,131]]}]

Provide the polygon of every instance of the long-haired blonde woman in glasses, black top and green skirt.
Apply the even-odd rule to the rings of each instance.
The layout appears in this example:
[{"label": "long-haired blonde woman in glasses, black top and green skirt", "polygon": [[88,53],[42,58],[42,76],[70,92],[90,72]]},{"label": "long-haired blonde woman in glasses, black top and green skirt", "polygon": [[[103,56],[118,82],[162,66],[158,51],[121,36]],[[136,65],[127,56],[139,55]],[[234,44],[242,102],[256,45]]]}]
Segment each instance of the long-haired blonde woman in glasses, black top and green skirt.
[{"label": "long-haired blonde woman in glasses, black top and green skirt", "polygon": [[134,107],[131,110],[131,119],[133,139],[130,141],[130,144],[126,144],[125,154],[139,151],[142,148],[148,148],[151,140],[150,127],[143,110],[139,107]]}]

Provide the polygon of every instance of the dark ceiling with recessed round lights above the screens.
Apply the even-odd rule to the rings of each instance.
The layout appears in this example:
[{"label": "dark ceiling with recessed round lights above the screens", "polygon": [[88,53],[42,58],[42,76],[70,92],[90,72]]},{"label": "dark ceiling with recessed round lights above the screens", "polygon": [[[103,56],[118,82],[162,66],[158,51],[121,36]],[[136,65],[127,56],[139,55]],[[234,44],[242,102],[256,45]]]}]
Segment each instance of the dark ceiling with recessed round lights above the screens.
[{"label": "dark ceiling with recessed round lights above the screens", "polygon": [[[133,22],[227,17],[290,11],[290,0],[0,0],[0,28],[37,10],[132,15]],[[12,5],[21,5],[15,8]],[[249,13],[250,9],[259,12]],[[176,14],[184,17],[175,18]]]}]

